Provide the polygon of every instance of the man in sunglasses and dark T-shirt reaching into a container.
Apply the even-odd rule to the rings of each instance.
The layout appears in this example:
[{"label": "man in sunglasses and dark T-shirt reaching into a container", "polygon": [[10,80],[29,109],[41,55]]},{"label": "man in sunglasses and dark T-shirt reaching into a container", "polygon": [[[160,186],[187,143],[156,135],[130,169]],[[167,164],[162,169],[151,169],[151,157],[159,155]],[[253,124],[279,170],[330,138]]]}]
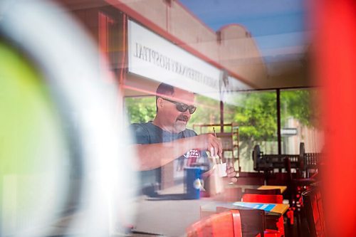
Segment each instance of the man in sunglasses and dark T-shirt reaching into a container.
[{"label": "man in sunglasses and dark T-shirt reaching into a container", "polygon": [[[194,93],[161,83],[156,91],[156,107],[157,114],[152,122],[131,125],[137,142],[135,147],[140,170],[162,167],[192,149],[202,151],[203,156],[209,150],[214,157],[221,157],[220,139],[211,134],[197,135],[194,130],[186,128],[190,117],[197,110]],[[231,181],[236,181],[233,167],[228,167],[226,173]],[[150,177],[147,176],[147,179]]]}]

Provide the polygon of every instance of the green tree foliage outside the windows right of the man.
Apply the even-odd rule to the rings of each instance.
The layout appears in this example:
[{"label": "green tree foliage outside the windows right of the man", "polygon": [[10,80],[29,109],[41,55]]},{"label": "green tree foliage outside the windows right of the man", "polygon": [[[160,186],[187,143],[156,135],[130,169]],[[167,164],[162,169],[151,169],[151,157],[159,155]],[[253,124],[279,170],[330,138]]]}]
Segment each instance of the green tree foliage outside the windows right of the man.
[{"label": "green tree foliage outside the windows right of the man", "polygon": [[[318,108],[313,103],[315,90],[281,91],[281,127],[293,117],[302,126],[317,126]],[[254,91],[236,96],[239,106],[226,105],[225,121],[239,124],[241,157],[250,159],[255,144],[263,150],[277,152],[276,91]],[[233,114],[234,116],[229,116]]]}]

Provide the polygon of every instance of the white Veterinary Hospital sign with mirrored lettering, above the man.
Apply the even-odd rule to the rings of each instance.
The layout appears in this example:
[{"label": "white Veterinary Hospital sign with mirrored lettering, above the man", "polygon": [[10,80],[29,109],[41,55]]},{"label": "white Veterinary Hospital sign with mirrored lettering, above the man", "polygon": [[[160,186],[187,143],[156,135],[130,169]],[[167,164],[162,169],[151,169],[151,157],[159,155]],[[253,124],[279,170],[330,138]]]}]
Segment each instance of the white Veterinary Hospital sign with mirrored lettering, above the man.
[{"label": "white Veterinary Hospital sign with mirrored lettering, above the man", "polygon": [[128,21],[128,76],[125,86],[142,93],[167,83],[214,100],[234,104],[231,92],[251,87],[162,36]]}]

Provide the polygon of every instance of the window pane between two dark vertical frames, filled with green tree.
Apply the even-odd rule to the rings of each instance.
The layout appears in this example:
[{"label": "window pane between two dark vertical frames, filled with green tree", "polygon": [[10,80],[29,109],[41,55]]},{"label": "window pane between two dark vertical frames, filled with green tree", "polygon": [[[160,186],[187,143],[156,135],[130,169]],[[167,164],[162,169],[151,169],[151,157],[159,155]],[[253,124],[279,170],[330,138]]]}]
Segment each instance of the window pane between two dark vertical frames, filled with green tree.
[{"label": "window pane between two dark vertical frames, filled with green tree", "polygon": [[239,159],[243,172],[253,171],[252,151],[278,154],[276,91],[236,94],[236,105],[224,105],[224,120],[239,125]]}]

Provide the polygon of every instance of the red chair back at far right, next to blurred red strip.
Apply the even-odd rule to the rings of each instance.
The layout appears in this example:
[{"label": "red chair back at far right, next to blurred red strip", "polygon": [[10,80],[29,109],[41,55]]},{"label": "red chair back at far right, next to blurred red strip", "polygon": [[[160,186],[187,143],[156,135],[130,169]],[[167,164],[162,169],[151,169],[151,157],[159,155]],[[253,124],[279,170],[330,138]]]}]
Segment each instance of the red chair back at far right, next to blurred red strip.
[{"label": "red chair back at far right, next to blurred red strip", "polygon": [[311,189],[303,192],[302,197],[305,216],[308,222],[309,236],[325,236],[325,219],[320,191],[318,189]]}]

